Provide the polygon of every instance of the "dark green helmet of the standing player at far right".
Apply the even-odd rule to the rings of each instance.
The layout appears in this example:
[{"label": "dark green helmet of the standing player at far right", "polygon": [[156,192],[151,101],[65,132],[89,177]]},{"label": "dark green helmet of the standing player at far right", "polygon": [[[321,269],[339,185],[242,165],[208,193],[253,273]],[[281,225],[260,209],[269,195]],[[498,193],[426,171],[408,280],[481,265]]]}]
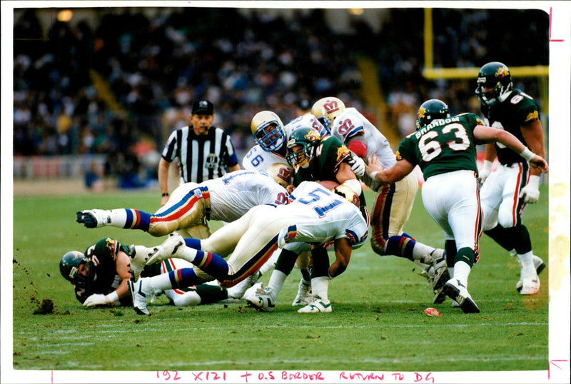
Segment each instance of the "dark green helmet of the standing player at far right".
[{"label": "dark green helmet of the standing player at far right", "polygon": [[480,103],[493,106],[497,101],[504,101],[512,91],[512,76],[507,66],[499,61],[484,64],[477,74],[475,94]]}]

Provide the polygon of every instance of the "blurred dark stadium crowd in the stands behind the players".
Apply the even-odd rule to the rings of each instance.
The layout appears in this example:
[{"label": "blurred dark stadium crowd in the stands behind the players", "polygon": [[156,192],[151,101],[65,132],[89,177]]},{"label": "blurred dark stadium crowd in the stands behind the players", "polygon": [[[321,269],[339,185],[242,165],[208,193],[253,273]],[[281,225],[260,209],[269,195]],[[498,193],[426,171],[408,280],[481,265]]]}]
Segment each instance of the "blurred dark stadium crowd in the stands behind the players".
[{"label": "blurred dark stadium crowd in the stands behind the players", "polygon": [[[355,33],[343,35],[328,28],[320,9],[292,19],[236,9],[158,9],[153,17],[138,8],[94,12],[94,29],[54,20],[42,31],[35,9],[16,10],[14,156],[105,153],[106,175],[132,171],[146,150],[141,140],[160,151],[168,134],[186,125],[196,98],[216,105],[214,123],[238,150],[253,144],[249,126],[257,111],[289,121],[300,98],[334,94],[374,116],[361,93],[358,55],[378,63],[387,128],[401,136],[414,129],[416,108],[427,98],[454,100],[452,113],[479,108],[473,79],[423,78],[423,9],[391,9],[380,32],[355,21]],[[545,36],[533,32],[545,30],[546,17],[514,10],[512,21],[528,26],[522,36],[500,27],[494,10],[434,12],[435,66],[480,66],[501,57],[506,44],[510,65],[546,64],[547,51],[533,49],[547,49],[535,44]],[[538,94],[534,81],[523,88]]]}]

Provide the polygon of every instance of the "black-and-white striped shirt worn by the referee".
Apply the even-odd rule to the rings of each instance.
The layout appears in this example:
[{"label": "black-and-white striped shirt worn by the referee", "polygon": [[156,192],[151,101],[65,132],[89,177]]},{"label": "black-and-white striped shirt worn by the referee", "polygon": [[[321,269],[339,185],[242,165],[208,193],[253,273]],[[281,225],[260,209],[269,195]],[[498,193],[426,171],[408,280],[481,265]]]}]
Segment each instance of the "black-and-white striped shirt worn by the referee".
[{"label": "black-and-white striped shirt worn by the referee", "polygon": [[188,126],[173,131],[168,136],[162,157],[169,163],[178,157],[185,183],[202,183],[223,176],[228,167],[238,163],[230,135],[216,126],[211,126],[206,135],[197,135]]}]

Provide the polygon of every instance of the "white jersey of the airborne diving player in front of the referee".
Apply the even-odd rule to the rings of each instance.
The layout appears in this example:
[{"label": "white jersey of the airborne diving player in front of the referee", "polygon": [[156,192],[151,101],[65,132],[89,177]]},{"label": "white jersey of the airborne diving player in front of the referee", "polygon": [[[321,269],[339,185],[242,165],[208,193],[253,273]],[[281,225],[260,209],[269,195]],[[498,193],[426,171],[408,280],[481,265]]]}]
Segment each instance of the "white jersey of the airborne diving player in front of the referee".
[{"label": "white jersey of the airborne diving player in front of the referee", "polygon": [[233,171],[202,185],[210,192],[211,220],[231,222],[254,206],[288,203],[288,191],[263,171]]}]

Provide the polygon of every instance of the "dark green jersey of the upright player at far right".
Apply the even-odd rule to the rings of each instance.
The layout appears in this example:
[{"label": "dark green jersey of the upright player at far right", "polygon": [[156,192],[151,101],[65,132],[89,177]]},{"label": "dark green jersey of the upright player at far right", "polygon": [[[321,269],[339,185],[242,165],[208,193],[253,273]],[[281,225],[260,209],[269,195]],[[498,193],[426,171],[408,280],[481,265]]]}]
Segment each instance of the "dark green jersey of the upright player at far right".
[{"label": "dark green jersey of the upright player at far right", "polygon": [[[540,109],[535,100],[519,89],[514,89],[504,101],[500,102],[498,100],[491,107],[482,105],[481,109],[484,116],[488,119],[489,126],[512,133],[525,146],[527,146],[527,143],[525,143],[520,126],[540,118]],[[497,161],[500,164],[506,165],[525,161],[519,153],[512,151],[502,143],[495,143],[495,149]]]}]

